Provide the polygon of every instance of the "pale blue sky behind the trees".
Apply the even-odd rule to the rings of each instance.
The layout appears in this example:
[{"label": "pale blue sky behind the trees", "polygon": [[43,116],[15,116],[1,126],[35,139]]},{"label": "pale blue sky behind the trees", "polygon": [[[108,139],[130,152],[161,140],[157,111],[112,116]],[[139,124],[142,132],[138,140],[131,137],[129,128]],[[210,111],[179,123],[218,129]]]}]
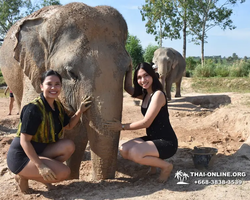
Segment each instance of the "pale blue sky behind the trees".
[{"label": "pale blue sky behind the trees", "polygon": [[[226,0],[221,0],[225,2]],[[83,2],[89,6],[108,5],[116,8],[125,18],[131,35],[137,36],[143,48],[149,44],[157,45],[154,36],[146,33],[145,21],[139,11],[139,7],[145,4],[144,0],[60,0],[65,5],[70,2]],[[234,30],[223,31],[214,27],[207,33],[208,39],[205,43],[205,56],[232,56],[236,53],[239,57],[250,57],[250,0],[244,4],[238,3],[234,8],[231,19],[237,27]],[[182,35],[182,33],[181,33]],[[190,39],[190,38],[187,38]],[[164,47],[172,47],[182,54],[183,41],[163,40]],[[201,56],[201,46],[187,42],[187,57]]]}]

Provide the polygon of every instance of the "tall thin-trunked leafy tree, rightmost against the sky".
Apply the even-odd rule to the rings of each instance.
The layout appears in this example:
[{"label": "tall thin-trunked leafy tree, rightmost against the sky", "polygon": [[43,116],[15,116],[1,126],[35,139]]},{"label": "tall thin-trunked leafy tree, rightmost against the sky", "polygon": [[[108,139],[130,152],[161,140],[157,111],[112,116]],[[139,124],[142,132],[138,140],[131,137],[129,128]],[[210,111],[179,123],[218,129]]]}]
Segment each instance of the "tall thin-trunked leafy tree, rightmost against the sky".
[{"label": "tall thin-trunked leafy tree, rightmost against the sky", "polygon": [[189,0],[187,15],[192,16],[188,18],[189,33],[192,35],[192,42],[201,44],[202,64],[204,64],[207,32],[215,26],[223,30],[236,28],[230,19],[233,13],[230,7],[237,2],[243,3],[245,0]]}]

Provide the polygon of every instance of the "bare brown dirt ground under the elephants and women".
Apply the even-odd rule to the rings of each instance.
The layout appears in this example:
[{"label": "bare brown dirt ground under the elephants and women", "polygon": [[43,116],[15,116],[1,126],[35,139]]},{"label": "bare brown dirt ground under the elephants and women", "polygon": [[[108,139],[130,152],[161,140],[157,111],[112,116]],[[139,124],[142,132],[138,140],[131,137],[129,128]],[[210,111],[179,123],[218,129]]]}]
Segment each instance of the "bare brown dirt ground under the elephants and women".
[{"label": "bare brown dirt ground under the elephants and women", "polygon": [[[168,159],[174,169],[164,184],[157,182],[159,171],[156,175],[146,175],[147,166],[124,160],[119,154],[115,179],[93,181],[87,148],[79,180],[56,184],[58,189],[53,191],[30,181],[34,192],[21,194],[14,175],[6,166],[6,154],[19,116],[16,105],[13,115],[7,116],[8,98],[0,98],[0,199],[249,199],[250,150],[247,149],[249,155],[243,155],[239,149],[249,136],[250,94],[194,93],[190,81],[184,78],[182,97],[169,102],[170,121],[179,140],[179,149]],[[134,105],[133,98],[127,94],[124,94],[123,106],[124,123],[142,118],[140,106]],[[144,134],[145,130],[123,131],[120,142]],[[190,153],[195,146],[218,149],[208,169],[195,168]],[[216,176],[212,176],[212,172]],[[186,174],[186,184],[180,184],[180,173]]]}]

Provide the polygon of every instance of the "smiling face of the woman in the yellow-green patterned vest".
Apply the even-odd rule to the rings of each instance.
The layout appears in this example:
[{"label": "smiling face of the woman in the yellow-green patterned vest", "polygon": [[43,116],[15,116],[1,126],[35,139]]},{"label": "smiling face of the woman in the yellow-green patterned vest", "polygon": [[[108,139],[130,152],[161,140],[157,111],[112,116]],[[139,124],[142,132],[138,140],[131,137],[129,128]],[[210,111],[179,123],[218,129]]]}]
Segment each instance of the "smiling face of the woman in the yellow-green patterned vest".
[{"label": "smiling face of the woman in the yellow-green patterned vest", "polygon": [[47,76],[40,86],[46,99],[56,99],[62,89],[62,83],[55,75]]}]

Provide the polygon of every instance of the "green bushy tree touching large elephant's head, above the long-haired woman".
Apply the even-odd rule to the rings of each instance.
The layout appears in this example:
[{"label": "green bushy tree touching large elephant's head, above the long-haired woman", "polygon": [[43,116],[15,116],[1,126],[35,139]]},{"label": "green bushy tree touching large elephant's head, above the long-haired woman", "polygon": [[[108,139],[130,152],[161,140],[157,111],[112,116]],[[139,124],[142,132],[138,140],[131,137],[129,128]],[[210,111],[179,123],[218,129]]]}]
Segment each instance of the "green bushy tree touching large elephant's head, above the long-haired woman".
[{"label": "green bushy tree touching large elephant's head, above the long-haired woman", "polygon": [[141,62],[143,59],[143,48],[140,44],[140,40],[133,35],[129,35],[126,42],[126,50],[132,58],[133,69]]}]

